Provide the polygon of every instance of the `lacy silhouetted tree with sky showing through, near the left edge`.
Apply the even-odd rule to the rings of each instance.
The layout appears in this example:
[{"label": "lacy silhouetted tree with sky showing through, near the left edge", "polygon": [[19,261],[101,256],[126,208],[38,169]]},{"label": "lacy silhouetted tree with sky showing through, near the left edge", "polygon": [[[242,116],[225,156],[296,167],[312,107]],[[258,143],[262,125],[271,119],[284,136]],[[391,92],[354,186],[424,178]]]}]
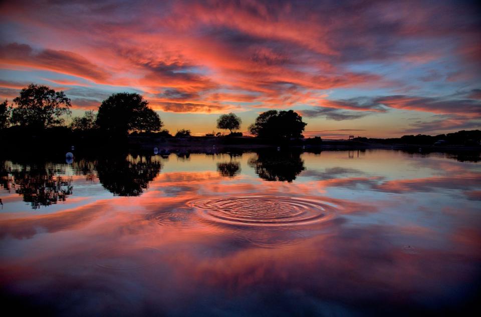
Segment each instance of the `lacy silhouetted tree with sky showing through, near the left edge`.
[{"label": "lacy silhouetted tree with sky showing through, near the left edge", "polygon": [[70,99],[63,91],[56,92],[47,86],[30,84],[14,99],[13,124],[23,127],[49,128],[61,125],[63,115],[70,115]]}]

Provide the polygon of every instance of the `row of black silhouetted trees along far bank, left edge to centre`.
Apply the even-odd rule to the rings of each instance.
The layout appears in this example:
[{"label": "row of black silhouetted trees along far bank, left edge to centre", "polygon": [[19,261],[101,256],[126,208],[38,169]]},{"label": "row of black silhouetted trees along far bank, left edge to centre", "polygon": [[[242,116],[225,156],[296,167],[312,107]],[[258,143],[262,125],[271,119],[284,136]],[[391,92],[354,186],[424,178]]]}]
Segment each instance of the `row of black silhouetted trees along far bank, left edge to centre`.
[{"label": "row of black silhouetted trees along far bank, left edge to centre", "polygon": [[[102,101],[97,112],[86,111],[72,117],[71,101],[64,92],[48,86],[31,84],[20,95],[0,104],[0,136],[11,145],[23,141],[95,143],[124,142],[129,135],[150,137],[189,137],[191,131],[180,129],[175,135],[162,129],[164,123],[148,102],[136,93],[116,93]],[[67,119],[67,120],[66,120]],[[68,123],[70,119],[70,123]],[[217,119],[218,129],[229,130],[227,136],[242,136],[242,120],[233,113]],[[258,137],[275,140],[302,138],[306,123],[296,112],[271,110],[259,115],[249,131]],[[222,136],[220,132],[205,136]],[[101,142],[101,143],[102,143]]]}]

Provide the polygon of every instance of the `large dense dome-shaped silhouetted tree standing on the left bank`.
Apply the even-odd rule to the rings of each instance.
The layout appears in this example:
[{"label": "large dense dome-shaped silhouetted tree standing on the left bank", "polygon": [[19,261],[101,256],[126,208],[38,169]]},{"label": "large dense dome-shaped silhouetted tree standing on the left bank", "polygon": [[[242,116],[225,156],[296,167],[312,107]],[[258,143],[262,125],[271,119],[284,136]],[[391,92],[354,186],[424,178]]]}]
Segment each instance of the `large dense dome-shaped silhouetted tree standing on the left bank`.
[{"label": "large dense dome-shaped silhouetted tree standing on the left bank", "polygon": [[158,131],[162,121],[136,93],[113,94],[102,102],[97,125],[111,136],[126,136],[132,131]]}]

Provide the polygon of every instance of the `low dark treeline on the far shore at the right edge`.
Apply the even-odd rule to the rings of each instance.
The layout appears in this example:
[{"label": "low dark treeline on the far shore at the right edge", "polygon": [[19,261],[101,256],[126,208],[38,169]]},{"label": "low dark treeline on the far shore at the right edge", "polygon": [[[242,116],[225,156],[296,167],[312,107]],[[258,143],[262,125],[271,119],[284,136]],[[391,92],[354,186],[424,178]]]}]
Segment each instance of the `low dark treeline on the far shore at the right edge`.
[{"label": "low dark treeline on the far shore at the right edge", "polygon": [[410,145],[479,145],[481,130],[461,130],[454,133],[438,134],[435,136],[418,134],[404,135],[400,138],[376,139],[354,138],[354,141],[381,143],[381,144],[410,144]]}]

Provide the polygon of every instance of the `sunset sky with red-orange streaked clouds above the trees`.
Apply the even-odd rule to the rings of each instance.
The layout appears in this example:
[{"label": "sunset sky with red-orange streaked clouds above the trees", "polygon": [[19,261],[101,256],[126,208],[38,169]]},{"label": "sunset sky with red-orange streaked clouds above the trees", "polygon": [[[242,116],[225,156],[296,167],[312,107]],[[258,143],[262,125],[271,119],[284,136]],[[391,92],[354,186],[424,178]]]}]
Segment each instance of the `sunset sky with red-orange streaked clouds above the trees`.
[{"label": "sunset sky with red-orange streaked clouds above the trees", "polygon": [[0,97],[64,90],[74,115],[137,92],[170,132],[270,109],[305,136],[481,127],[481,7],[462,1],[4,1]]}]

